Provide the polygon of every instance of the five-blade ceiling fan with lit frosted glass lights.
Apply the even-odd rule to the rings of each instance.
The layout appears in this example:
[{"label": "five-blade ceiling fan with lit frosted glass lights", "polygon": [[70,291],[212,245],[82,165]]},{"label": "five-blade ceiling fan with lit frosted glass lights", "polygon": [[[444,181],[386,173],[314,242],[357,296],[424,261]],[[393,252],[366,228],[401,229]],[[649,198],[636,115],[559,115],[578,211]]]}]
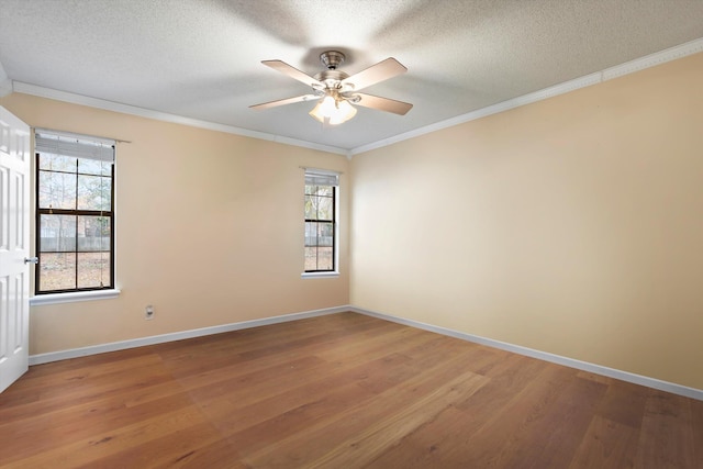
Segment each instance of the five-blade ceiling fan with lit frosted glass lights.
[{"label": "five-blade ceiling fan with lit frosted glass lights", "polygon": [[400,115],[405,115],[411,110],[413,105],[408,102],[358,92],[371,85],[408,71],[408,68],[400,62],[389,57],[358,74],[349,76],[342,70],[337,70],[337,67],[345,58],[344,54],[338,51],[323,52],[320,55],[320,62],[327,69],[316,74],[314,77],[282,60],[261,60],[261,64],[310,86],[312,93],[254,104],[249,108],[268,109],[294,102],[316,100],[317,104],[310,111],[310,115],[323,124],[330,125],[342,124],[354,118],[356,109],[352,103]]}]

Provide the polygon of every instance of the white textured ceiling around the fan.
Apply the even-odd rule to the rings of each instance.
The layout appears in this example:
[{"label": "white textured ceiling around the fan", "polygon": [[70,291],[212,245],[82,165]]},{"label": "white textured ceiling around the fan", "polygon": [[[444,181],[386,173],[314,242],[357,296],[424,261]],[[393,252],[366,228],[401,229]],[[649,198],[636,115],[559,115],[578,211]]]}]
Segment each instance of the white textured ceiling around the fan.
[{"label": "white textured ceiling around the fan", "polygon": [[[0,81],[353,149],[703,37],[703,0],[0,0]],[[326,49],[354,74],[387,57],[409,71],[365,92],[341,126],[260,64],[310,75]],[[0,91],[2,87],[0,87]]]}]

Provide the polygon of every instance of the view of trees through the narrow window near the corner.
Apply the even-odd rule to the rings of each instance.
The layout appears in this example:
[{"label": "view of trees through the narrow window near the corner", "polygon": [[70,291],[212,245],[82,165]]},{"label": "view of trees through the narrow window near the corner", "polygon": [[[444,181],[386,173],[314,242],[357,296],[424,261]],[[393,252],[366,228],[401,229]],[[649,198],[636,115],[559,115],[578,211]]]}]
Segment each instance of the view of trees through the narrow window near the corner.
[{"label": "view of trees through the narrow window near the corner", "polygon": [[335,187],[305,185],[305,271],[332,271],[335,248]]}]

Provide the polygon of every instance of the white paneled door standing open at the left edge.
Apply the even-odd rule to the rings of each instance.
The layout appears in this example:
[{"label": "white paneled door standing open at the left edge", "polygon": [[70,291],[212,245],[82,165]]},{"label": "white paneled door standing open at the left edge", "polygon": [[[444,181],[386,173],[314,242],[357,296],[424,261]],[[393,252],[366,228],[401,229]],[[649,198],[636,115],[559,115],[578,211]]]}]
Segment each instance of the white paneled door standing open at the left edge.
[{"label": "white paneled door standing open at the left edge", "polygon": [[30,127],[0,107],[0,392],[29,367]]}]

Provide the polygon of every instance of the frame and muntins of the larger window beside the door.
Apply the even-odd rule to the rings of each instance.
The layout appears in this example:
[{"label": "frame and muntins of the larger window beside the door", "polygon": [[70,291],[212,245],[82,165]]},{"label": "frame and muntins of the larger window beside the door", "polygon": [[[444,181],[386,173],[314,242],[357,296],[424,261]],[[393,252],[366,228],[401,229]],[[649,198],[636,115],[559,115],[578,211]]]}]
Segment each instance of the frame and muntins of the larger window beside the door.
[{"label": "frame and muntins of the larger window beside the door", "polygon": [[[103,160],[100,158],[94,158],[94,157],[90,157],[90,156],[79,156],[79,155],[75,155],[75,154],[70,154],[70,152],[68,152],[68,154],[63,153],[60,149],[57,149],[55,153],[51,153],[49,150],[42,150],[38,147],[38,145],[35,144],[35,187],[34,187],[34,213],[35,213],[35,221],[34,221],[34,246],[35,246],[35,255],[38,259],[38,263],[36,263],[36,265],[34,266],[34,295],[35,298],[37,298],[37,301],[33,302],[33,304],[43,304],[43,303],[53,303],[53,302],[63,302],[63,301],[81,301],[85,299],[99,299],[99,298],[111,298],[113,295],[115,295],[116,293],[119,293],[119,290],[115,289],[115,154],[116,154],[116,148],[115,148],[115,142],[114,141],[109,141],[105,138],[100,138],[100,137],[93,137],[93,136],[89,136],[89,135],[79,135],[79,134],[68,134],[65,132],[57,132],[57,131],[51,131],[51,130],[36,130],[36,134],[42,134],[42,135],[48,135],[52,137],[58,137],[58,139],[60,138],[68,138],[68,139],[75,139],[81,143],[86,143],[86,144],[101,144],[101,145],[109,145],[112,147],[112,158],[111,160],[108,160],[107,163],[109,163],[110,165],[110,210],[85,210],[85,209],[54,209],[54,208],[42,208],[40,206],[40,189],[41,189],[41,179],[40,179],[40,175],[44,171],[47,172],[47,170],[45,169],[41,169],[41,155],[42,154],[53,154],[53,155],[59,155],[59,156],[69,156],[69,157],[75,157],[77,158],[77,167],[76,167],[76,171],[75,172],[69,172],[69,171],[48,171],[48,172],[55,172],[55,174],[67,174],[67,175],[75,175],[76,176],[76,200],[78,200],[78,176],[83,175],[83,176],[97,176],[93,174],[82,174],[79,172],[79,160],[80,159],[87,159],[87,160]],[[36,143],[36,141],[35,141]],[[105,177],[105,176],[100,176],[100,177]],[[109,252],[108,250],[98,250],[98,252],[87,252],[87,253],[109,253],[110,255],[110,261],[109,261],[109,275],[110,275],[110,281],[107,284],[102,284],[102,286],[98,286],[98,287],[78,287],[78,273],[79,273],[79,260],[78,260],[78,254],[82,253],[81,250],[78,250],[78,231],[76,231],[76,246],[75,246],[75,250],[70,250],[70,252],[60,252],[60,253],[75,253],[76,254],[76,260],[75,260],[75,266],[76,266],[76,271],[75,271],[75,284],[76,288],[70,288],[70,289],[55,289],[55,290],[41,290],[42,287],[42,273],[41,273],[41,269],[42,269],[42,215],[69,215],[69,216],[75,216],[76,217],[76,225],[78,225],[78,220],[80,216],[102,216],[102,217],[108,217],[109,219],[109,228],[110,228],[110,242],[109,242]],[[53,253],[53,252],[47,252],[47,253]],[[41,300],[40,300],[41,298]],[[63,300],[62,300],[63,299]]]}]

